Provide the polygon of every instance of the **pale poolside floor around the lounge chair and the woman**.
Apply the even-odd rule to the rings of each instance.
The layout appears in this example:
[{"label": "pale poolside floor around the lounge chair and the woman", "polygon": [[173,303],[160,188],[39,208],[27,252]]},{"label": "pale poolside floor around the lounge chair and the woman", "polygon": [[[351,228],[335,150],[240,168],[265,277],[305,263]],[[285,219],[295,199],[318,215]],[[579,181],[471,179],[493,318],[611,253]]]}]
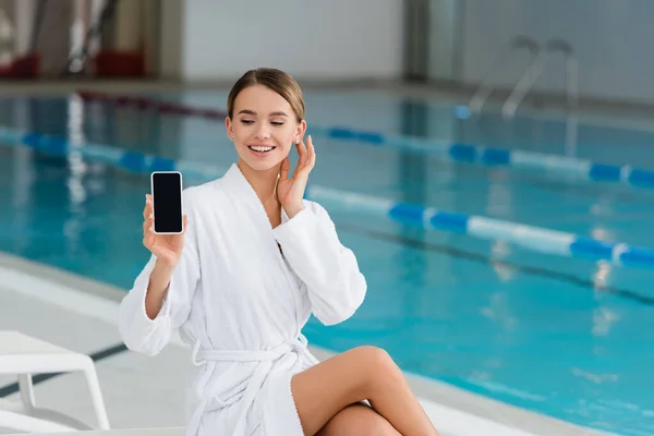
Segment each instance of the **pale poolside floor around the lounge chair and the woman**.
[{"label": "pale poolside floor around the lounge chair and the woman", "polygon": [[[2,254],[0,277],[7,279],[0,281],[4,283],[0,284],[0,330],[20,330],[88,354],[121,343],[116,327],[120,291]],[[329,356],[325,350],[312,351],[319,359]],[[156,358],[123,351],[97,362],[111,427],[183,426],[185,380],[191,367],[189,351],[174,343]],[[594,434],[443,384],[408,378],[444,436]],[[14,382],[0,377],[0,389]],[[93,422],[80,375],[51,378],[35,390],[38,405]],[[14,393],[5,399],[16,398]]]}]

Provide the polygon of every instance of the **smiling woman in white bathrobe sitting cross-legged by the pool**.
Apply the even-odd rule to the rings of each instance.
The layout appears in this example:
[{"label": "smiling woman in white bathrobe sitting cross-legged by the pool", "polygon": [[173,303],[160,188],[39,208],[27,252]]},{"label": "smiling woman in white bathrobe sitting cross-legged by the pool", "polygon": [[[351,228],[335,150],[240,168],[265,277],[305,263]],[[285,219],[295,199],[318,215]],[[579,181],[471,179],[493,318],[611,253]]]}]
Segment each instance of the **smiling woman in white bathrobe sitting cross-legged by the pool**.
[{"label": "smiling woman in white bathrobe sitting cross-legged by the pool", "polygon": [[279,70],[249,71],[228,97],[226,128],[238,164],[184,190],[183,234],[153,233],[146,196],[152,256],[121,303],[125,344],[155,355],[179,328],[192,346],[190,435],[436,435],[386,352],[318,362],[306,348],[310,315],[349,318],[366,282],[327,211],[303,199],[316,153],[303,141],[299,85]]}]

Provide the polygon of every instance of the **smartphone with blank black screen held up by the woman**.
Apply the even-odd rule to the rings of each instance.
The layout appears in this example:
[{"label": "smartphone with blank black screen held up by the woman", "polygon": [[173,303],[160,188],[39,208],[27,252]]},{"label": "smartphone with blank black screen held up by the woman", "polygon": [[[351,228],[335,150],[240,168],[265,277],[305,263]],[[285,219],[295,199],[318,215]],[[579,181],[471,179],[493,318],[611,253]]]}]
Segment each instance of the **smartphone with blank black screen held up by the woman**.
[{"label": "smartphone with blank black screen held up by the woman", "polygon": [[182,173],[154,171],[150,174],[154,232],[180,234],[183,232]]}]

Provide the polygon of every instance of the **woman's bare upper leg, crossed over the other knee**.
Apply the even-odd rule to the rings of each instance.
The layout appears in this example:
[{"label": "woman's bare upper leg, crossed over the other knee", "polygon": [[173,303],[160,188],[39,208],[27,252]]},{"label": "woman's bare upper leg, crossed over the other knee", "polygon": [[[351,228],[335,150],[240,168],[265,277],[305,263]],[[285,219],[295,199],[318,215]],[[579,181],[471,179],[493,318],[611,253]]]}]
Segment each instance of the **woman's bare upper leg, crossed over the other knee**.
[{"label": "woman's bare upper leg, crossed over the other knee", "polygon": [[305,435],[315,435],[346,407],[367,399],[402,435],[438,436],[388,353],[359,347],[295,374],[291,391]]}]

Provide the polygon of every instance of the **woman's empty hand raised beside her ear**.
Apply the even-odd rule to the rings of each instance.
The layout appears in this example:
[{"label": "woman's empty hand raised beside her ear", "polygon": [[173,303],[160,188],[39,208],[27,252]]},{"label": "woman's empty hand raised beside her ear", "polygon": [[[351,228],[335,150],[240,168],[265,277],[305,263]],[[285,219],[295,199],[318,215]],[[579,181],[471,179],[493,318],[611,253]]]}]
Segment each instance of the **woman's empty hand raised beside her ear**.
[{"label": "woman's empty hand raised beside her ear", "polygon": [[289,218],[293,218],[295,214],[302,210],[302,198],[304,197],[308,173],[316,164],[316,152],[311,135],[308,135],[306,145],[304,145],[304,141],[301,141],[295,147],[300,157],[293,175],[289,179],[291,160],[287,156],[281,162],[279,182],[277,182],[277,198]]}]

